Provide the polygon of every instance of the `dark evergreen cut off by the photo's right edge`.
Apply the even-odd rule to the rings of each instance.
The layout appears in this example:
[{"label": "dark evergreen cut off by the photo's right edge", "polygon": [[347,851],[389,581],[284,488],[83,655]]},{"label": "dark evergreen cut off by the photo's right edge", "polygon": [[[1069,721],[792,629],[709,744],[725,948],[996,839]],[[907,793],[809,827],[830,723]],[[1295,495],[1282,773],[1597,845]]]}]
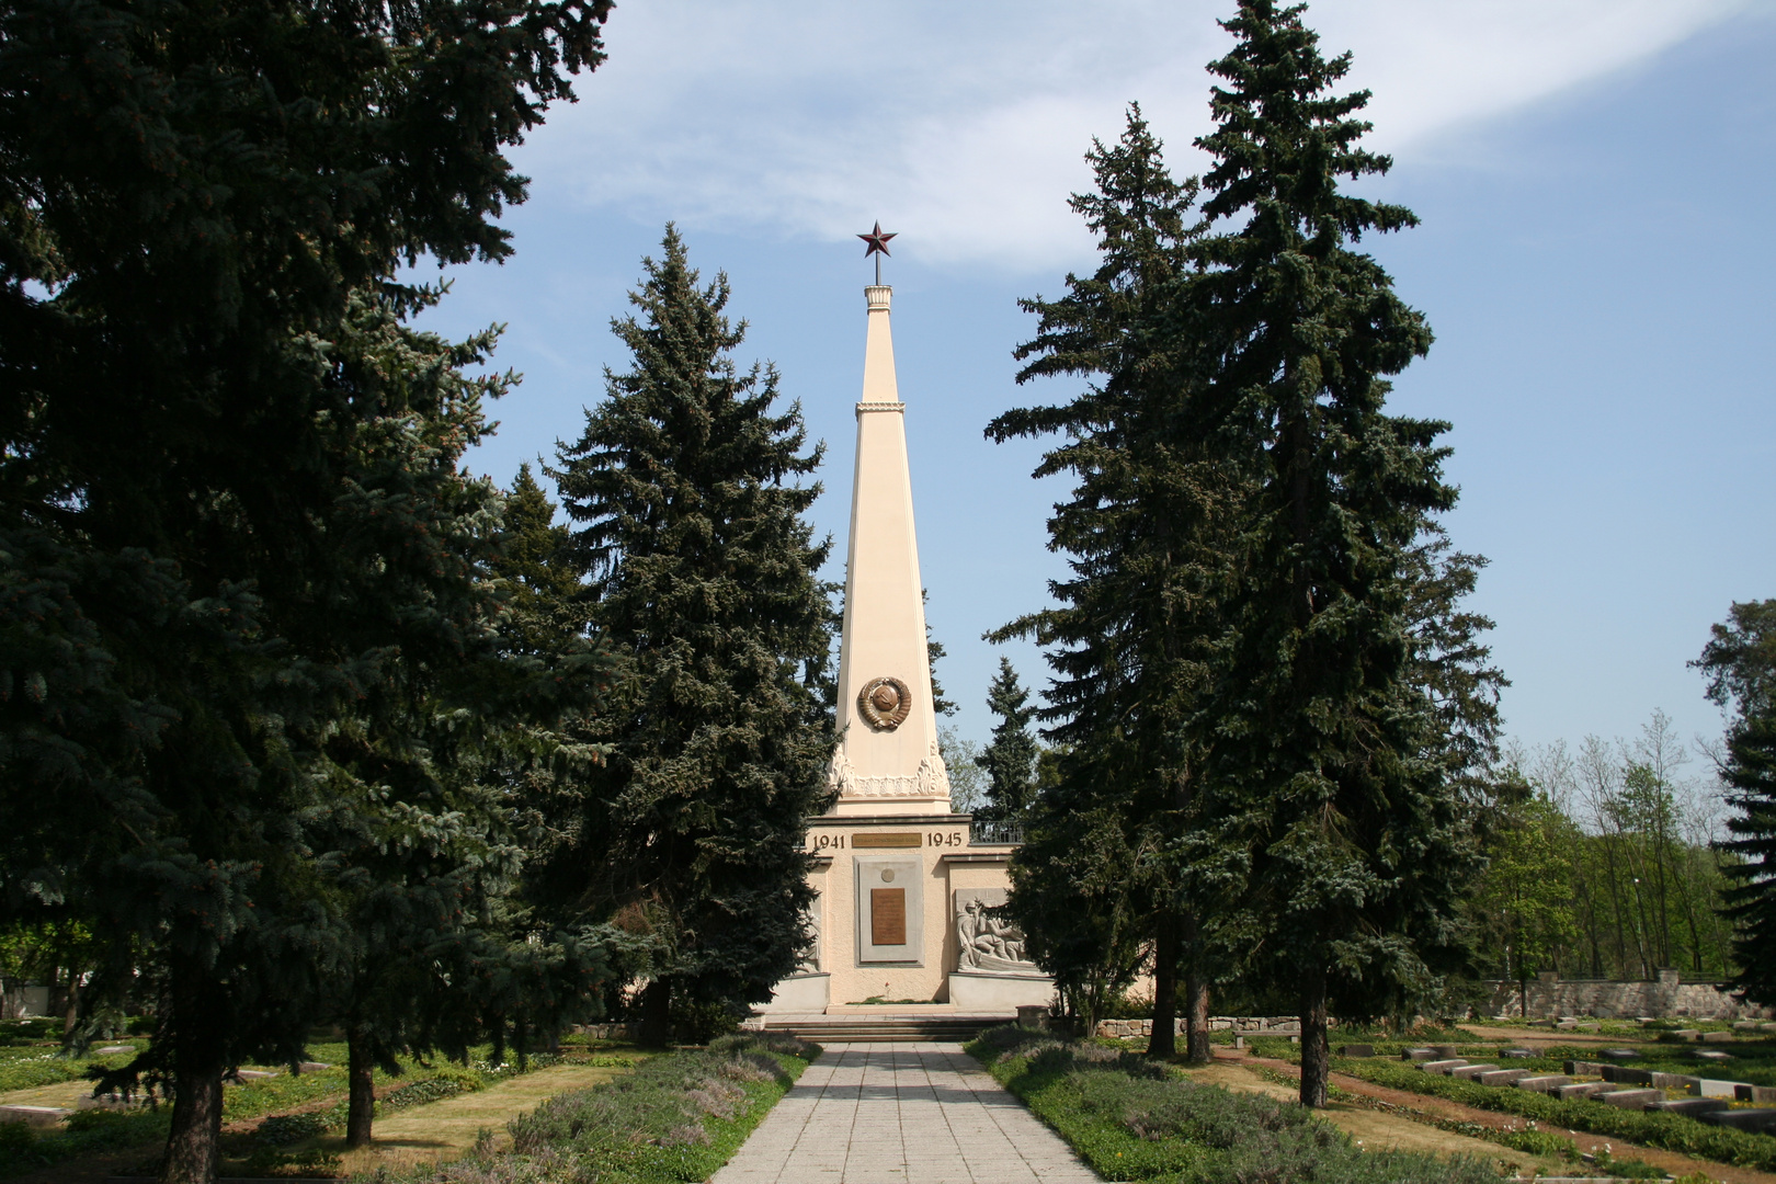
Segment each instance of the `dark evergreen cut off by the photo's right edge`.
[{"label": "dark evergreen cut off by the photo's right edge", "polygon": [[1709,698],[1733,715],[1726,728],[1726,781],[1733,815],[1724,850],[1739,856],[1723,914],[1733,923],[1735,985],[1776,999],[1776,600],[1735,604],[1694,662]]}]

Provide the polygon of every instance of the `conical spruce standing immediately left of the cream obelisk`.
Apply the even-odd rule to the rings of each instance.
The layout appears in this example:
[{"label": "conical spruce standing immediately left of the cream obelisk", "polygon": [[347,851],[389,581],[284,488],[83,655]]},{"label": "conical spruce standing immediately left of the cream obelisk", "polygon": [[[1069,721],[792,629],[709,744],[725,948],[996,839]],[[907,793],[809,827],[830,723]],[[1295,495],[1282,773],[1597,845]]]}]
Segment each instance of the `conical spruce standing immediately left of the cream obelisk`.
[{"label": "conical spruce standing immediately left of the cream obelisk", "polygon": [[821,463],[778,375],[741,373],[726,277],[707,288],[675,227],[613,328],[609,373],[552,469],[590,573],[588,616],[630,683],[599,738],[579,863],[591,916],[659,943],[643,994],[662,1040],[673,998],[749,1003],[796,969],[812,902],[803,852],[835,744],[821,694],[829,541],[803,518]]}]

